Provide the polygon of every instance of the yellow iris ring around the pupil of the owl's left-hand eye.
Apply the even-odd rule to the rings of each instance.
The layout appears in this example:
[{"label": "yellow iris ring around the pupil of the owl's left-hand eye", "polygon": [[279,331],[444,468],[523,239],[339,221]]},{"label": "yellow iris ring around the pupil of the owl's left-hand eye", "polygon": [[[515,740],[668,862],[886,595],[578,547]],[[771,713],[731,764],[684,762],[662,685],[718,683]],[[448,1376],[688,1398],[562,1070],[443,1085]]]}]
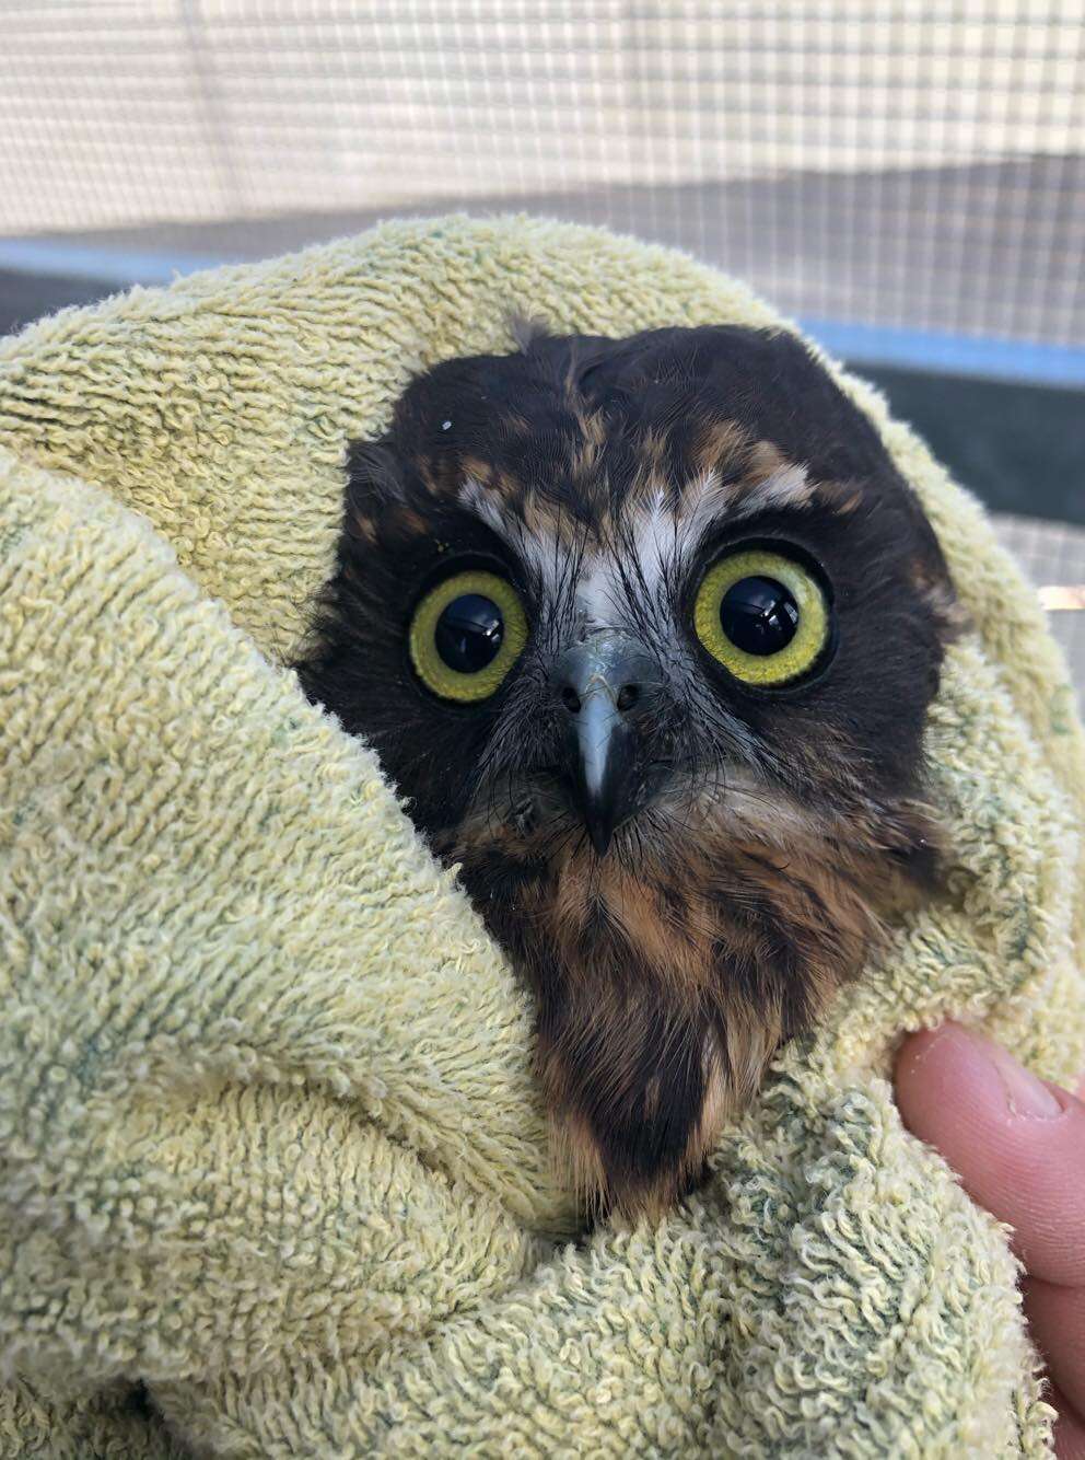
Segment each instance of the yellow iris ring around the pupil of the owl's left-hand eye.
[{"label": "yellow iris ring around the pupil of the owl's left-hand eye", "polygon": [[[464,673],[449,664],[438,647],[442,615],[456,599],[481,599],[496,610],[493,622],[499,632],[496,654],[480,669]],[[448,620],[445,620],[446,623]],[[419,600],[411,619],[408,648],[419,679],[442,699],[472,704],[489,699],[528,642],[528,620],[519,594],[496,572],[455,572]]]}]

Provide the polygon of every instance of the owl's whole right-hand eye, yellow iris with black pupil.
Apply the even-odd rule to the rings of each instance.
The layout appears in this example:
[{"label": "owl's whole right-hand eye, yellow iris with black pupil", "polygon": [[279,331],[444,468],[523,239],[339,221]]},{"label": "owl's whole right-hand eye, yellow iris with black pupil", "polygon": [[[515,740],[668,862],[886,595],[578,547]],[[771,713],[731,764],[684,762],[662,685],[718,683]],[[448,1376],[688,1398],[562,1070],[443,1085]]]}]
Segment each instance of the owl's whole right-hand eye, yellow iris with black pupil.
[{"label": "owl's whole right-hand eye, yellow iris with black pupil", "polygon": [[747,548],[704,574],[693,626],[735,679],[786,685],[821,658],[831,620],[821,584],[802,564],[769,548]]}]

